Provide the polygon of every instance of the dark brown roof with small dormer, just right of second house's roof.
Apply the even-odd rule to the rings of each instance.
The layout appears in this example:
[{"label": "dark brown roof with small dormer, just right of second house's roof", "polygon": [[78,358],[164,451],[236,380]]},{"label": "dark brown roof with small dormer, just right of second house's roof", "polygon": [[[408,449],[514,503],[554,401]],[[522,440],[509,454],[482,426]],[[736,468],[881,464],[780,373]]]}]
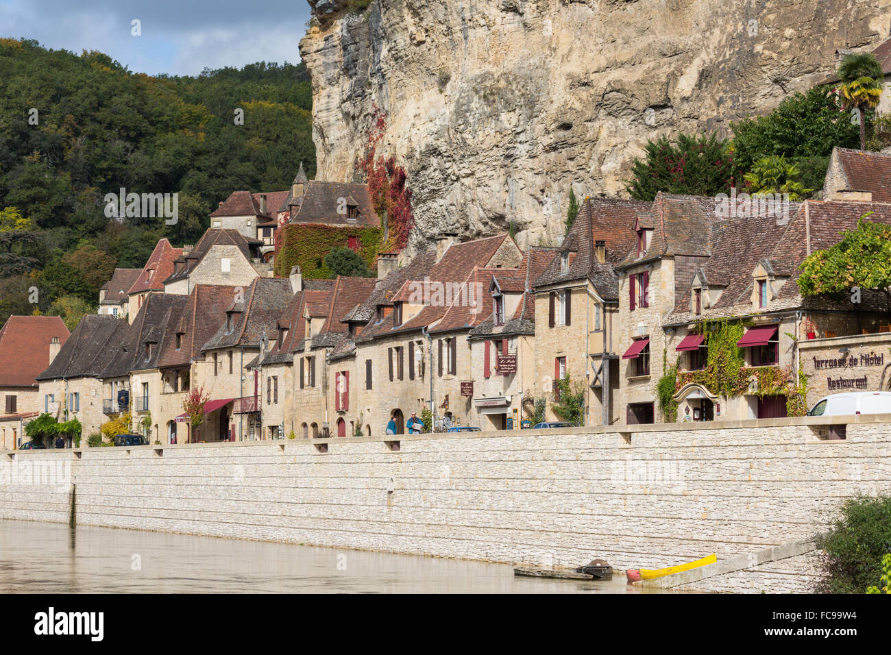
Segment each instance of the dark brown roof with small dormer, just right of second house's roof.
[{"label": "dark brown roof with small dormer, just right of second house's roof", "polygon": [[[139,308],[124,339],[110,344],[115,352],[100,373],[101,378],[122,378],[131,371],[158,367],[161,344],[173,323],[179,320],[188,296],[170,293],[151,293]],[[145,344],[152,343],[150,356],[145,356]]]}]

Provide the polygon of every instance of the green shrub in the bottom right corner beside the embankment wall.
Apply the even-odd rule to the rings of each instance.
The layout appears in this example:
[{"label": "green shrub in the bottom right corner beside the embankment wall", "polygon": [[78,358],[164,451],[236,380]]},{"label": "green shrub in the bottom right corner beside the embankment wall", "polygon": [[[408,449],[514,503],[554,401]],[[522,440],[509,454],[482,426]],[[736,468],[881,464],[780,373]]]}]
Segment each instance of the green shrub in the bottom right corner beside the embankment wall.
[{"label": "green shrub in the bottom right corner beside the embankment wall", "polygon": [[830,530],[814,539],[823,554],[821,594],[862,594],[882,577],[891,553],[891,495],[849,498]]}]

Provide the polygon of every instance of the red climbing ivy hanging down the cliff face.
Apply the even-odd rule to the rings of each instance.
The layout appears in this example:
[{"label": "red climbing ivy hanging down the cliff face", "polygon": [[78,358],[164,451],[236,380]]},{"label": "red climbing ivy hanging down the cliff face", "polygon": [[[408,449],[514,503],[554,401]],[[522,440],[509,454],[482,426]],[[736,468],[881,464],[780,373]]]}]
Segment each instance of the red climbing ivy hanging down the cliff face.
[{"label": "red climbing ivy hanging down the cliff face", "polygon": [[412,190],[405,184],[405,168],[396,164],[396,158],[377,154],[378,143],[387,127],[387,114],[374,105],[373,116],[374,126],[357,168],[365,174],[374,211],[381,221],[387,221],[388,239],[382,244],[381,251],[402,250],[414,225]]}]

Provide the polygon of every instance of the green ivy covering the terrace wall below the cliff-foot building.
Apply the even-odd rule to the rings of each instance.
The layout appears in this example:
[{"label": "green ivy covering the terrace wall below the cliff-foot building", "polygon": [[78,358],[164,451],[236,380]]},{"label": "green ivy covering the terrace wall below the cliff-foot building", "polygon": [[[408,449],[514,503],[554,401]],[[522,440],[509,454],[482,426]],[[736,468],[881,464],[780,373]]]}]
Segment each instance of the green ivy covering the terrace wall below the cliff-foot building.
[{"label": "green ivy covering the terrace wall below the cliff-foot building", "polygon": [[305,280],[327,279],[331,271],[325,266],[325,255],[332,248],[347,248],[348,238],[359,242],[359,255],[374,270],[380,249],[380,227],[334,227],[331,225],[284,225],[279,228],[275,252],[275,274],[287,277],[292,266],[300,266]]}]

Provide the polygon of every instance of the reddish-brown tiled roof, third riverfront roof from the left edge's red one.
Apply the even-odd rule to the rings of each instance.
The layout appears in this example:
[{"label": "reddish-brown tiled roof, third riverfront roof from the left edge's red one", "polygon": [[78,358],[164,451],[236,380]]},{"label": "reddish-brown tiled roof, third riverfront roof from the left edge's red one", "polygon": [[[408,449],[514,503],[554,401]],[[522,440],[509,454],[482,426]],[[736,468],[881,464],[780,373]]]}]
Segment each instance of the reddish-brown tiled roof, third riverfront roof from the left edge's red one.
[{"label": "reddish-brown tiled roof, third riverfront roof from the left edge's red one", "polygon": [[[232,305],[236,287],[220,284],[197,284],[178,320],[161,341],[158,368],[188,365],[199,359],[201,346],[207,343],[220,325],[225,323],[225,310]],[[176,349],[176,333],[183,334],[180,349]]]}]

